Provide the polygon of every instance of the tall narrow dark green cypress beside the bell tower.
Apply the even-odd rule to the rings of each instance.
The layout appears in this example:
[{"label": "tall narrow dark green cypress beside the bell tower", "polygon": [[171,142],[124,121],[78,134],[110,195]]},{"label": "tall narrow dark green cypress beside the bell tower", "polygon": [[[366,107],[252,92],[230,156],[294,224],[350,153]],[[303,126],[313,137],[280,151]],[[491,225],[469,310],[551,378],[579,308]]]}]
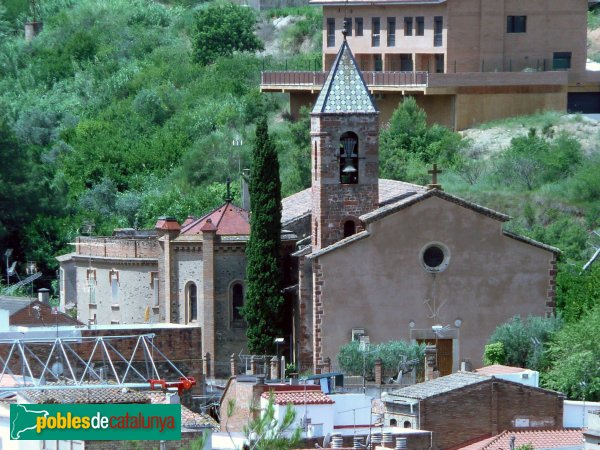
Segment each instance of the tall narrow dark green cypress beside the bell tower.
[{"label": "tall narrow dark green cypress beside the bell tower", "polygon": [[248,323],[250,352],[267,354],[273,351],[273,340],[280,333],[283,297],[279,161],[264,115],[256,126],[249,188],[252,214],[246,247],[248,289],[242,314]]}]

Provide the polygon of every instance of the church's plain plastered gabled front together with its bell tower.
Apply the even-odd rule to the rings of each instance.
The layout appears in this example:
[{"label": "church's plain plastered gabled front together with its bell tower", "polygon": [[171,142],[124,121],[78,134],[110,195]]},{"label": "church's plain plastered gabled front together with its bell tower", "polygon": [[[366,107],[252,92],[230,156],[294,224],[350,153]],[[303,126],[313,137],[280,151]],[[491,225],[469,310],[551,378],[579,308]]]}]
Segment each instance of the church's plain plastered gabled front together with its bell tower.
[{"label": "church's plain plastered gabled front together with its bell tower", "polygon": [[311,114],[312,237],[296,252],[301,365],[329,367],[368,336],[435,343],[442,374],[463,360],[478,367],[496,326],[554,313],[558,250],[503,231],[508,216],[437,184],[382,195],[378,134],[344,41]]}]

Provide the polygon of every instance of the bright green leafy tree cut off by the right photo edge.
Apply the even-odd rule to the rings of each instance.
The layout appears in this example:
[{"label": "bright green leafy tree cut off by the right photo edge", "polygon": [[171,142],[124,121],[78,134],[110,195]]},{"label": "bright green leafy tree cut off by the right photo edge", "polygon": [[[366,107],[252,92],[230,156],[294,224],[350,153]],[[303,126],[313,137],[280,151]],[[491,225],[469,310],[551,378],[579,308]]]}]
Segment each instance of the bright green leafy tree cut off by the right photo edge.
[{"label": "bright green leafy tree cut off by the right photo edge", "polygon": [[574,400],[600,400],[600,305],[565,325],[548,349],[550,369],[542,374],[544,387]]}]

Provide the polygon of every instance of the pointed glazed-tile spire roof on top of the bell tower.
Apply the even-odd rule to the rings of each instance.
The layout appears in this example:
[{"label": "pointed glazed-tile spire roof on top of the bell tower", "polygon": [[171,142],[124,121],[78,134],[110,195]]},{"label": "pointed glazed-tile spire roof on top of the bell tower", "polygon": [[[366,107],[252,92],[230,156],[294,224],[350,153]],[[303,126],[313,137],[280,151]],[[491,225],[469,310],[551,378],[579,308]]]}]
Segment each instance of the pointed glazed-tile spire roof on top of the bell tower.
[{"label": "pointed glazed-tile spire roof on top of the bell tower", "polygon": [[354,56],[344,41],[323,84],[313,113],[377,112]]}]

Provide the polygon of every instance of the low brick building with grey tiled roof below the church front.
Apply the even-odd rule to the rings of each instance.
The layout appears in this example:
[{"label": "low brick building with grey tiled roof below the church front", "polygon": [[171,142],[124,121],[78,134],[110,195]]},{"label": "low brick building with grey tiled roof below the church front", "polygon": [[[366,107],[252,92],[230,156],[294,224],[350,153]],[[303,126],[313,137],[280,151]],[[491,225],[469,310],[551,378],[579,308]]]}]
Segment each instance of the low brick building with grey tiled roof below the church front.
[{"label": "low brick building with grey tiled roof below the church front", "polygon": [[471,372],[390,391],[382,401],[385,425],[431,431],[433,449],[503,430],[563,427],[563,394]]}]

